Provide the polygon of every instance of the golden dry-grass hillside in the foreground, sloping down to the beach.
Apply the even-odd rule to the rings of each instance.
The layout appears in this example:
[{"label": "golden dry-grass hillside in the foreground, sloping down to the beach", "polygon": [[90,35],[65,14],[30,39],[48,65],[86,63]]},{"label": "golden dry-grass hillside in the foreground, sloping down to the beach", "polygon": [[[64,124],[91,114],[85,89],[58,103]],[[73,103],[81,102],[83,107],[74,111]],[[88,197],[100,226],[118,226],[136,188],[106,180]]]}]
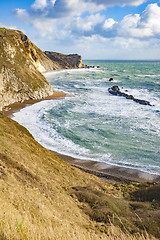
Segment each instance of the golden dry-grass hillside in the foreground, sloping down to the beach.
[{"label": "golden dry-grass hillside in the foreground, sloping down to the beach", "polygon": [[2,240],[159,239],[159,190],[84,173],[0,113]]}]

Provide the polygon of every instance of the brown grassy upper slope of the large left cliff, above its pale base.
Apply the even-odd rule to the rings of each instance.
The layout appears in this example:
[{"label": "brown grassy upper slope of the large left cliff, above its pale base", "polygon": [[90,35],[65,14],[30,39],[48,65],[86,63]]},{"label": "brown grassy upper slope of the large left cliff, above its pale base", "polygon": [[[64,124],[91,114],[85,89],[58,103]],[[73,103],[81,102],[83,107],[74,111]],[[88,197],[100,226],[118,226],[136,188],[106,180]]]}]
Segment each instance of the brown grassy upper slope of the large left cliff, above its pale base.
[{"label": "brown grassy upper slope of the large left cliff, above its pale base", "polygon": [[32,53],[33,59],[36,60],[36,55],[33,54],[35,45],[27,37],[25,44],[25,37],[20,31],[0,28],[0,71],[3,68],[10,69],[29,88],[38,89],[48,85],[48,82],[34,67],[29,54]]}]

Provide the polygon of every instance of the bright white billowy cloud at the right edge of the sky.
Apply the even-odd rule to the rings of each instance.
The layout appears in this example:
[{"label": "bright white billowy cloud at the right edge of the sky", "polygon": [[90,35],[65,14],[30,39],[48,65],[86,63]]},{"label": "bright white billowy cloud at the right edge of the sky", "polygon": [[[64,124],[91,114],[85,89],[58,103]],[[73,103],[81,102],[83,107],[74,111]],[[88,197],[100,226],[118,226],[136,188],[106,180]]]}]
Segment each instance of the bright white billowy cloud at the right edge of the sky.
[{"label": "bright white billowy cloud at the right edge of the sky", "polygon": [[115,37],[160,38],[160,7],[149,4],[141,14],[126,15],[119,23],[106,19],[103,29]]}]

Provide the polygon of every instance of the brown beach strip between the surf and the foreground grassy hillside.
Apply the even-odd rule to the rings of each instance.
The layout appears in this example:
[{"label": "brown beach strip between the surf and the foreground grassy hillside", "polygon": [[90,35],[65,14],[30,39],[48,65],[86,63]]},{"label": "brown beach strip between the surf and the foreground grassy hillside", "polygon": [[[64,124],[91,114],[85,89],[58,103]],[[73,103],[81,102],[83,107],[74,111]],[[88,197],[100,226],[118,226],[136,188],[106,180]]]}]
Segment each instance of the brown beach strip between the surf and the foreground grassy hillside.
[{"label": "brown beach strip between the surf and the foreground grassy hillside", "polygon": [[[54,151],[53,151],[54,152]],[[143,172],[137,169],[119,167],[105,162],[98,162],[94,160],[82,160],[70,157],[58,152],[54,152],[59,158],[77,167],[85,172],[96,175],[102,180],[119,183],[145,183],[145,182],[160,182],[160,176]]]}]

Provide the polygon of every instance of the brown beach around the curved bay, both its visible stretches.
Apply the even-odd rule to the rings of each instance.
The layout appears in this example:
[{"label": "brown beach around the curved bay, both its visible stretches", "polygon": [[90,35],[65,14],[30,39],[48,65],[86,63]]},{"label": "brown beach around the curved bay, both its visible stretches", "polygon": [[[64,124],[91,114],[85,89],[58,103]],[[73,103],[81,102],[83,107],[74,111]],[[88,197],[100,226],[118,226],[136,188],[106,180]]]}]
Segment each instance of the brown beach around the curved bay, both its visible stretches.
[{"label": "brown beach around the curved bay, both its visible stretches", "polygon": [[[20,111],[22,108],[35,104],[37,102],[45,100],[53,100],[58,98],[64,98],[67,94],[63,92],[54,92],[51,96],[48,96],[44,99],[38,100],[26,100],[23,103],[13,103],[3,109],[3,113],[12,118],[15,112]],[[92,160],[81,160],[58,152],[54,152],[59,158],[67,162],[68,164],[81,169],[87,173],[93,174],[102,180],[110,182],[119,182],[119,183],[130,183],[130,182],[160,182],[160,176],[156,174],[151,174],[143,172],[136,169],[119,167],[116,165],[111,165],[104,162],[92,161]]]}]

